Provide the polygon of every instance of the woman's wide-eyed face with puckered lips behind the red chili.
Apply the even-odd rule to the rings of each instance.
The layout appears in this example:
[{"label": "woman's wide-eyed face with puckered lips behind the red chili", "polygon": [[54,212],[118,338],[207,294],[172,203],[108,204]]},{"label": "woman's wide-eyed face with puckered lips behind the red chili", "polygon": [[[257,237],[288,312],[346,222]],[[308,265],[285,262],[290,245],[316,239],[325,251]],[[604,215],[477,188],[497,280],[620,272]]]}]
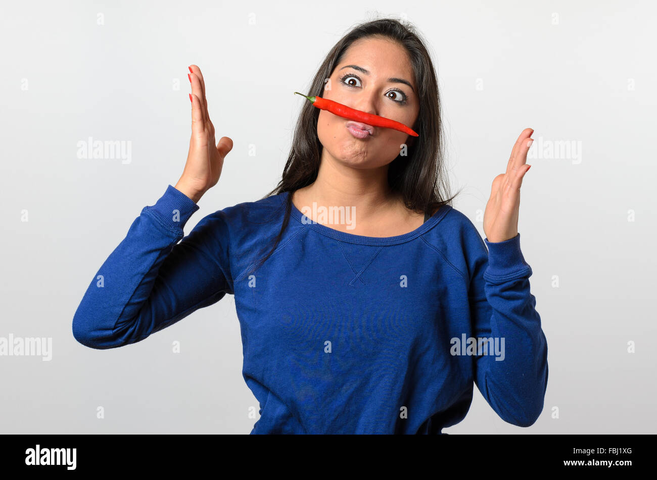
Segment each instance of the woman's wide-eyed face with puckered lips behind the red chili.
[{"label": "woman's wide-eyed face with puckered lips behind the red chili", "polygon": [[[321,97],[413,128],[420,110],[414,79],[403,47],[387,39],[361,39],[346,50],[330,81],[325,81]],[[349,122],[320,110],[317,136],[325,150],[323,155],[328,153],[350,167],[382,167],[409,142],[409,135],[383,127],[374,127],[373,135],[358,138],[347,128]]]}]

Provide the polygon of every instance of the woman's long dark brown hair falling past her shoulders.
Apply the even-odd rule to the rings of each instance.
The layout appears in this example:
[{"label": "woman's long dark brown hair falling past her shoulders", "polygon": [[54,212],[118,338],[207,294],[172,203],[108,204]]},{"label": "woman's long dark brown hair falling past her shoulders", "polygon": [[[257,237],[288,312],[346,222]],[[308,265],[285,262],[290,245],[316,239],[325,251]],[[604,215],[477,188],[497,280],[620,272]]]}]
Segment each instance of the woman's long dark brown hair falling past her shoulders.
[{"label": "woman's long dark brown hair falling past her shoulders", "polygon": [[[436,71],[421,35],[416,33],[411,24],[394,18],[380,18],[363,22],[352,28],[328,52],[315,74],[308,95],[323,96],[325,79],[330,78],[348,47],[354,41],[367,37],[382,37],[396,41],[409,54],[420,103],[417,121],[412,128],[419,134],[418,138],[421,140],[415,142],[414,137],[409,137],[411,142],[407,146],[406,155],[401,156],[400,153],[388,166],[388,184],[392,191],[401,193],[407,208],[431,216],[443,205],[451,206],[456,195],[447,198],[449,182],[445,177],[442,105],[438,94]],[[258,265],[263,264],[271,256],[283,237],[292,211],[292,193],[317,179],[322,151],[317,136],[318,116],[319,109],[311,102],[304,101],[281,181],[274,190],[262,197],[265,199],[271,195],[290,192],[287,196],[281,231],[267,256],[258,261]]]}]

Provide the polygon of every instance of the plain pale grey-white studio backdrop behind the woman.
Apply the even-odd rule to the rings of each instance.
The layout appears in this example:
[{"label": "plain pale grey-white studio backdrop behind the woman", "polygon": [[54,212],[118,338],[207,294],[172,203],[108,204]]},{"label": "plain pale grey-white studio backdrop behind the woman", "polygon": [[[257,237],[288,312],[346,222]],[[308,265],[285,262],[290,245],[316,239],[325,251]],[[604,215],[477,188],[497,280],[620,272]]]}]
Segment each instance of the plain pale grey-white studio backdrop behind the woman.
[{"label": "plain pale grey-white studio backdrop behind the woman", "polygon": [[[141,209],[183,170],[188,65],[204,73],[217,140],[230,136],[234,148],[185,233],[275,186],[306,101],[292,92],[307,89],[351,26],[401,16],[434,56],[449,180],[465,187],[454,206],[482,236],[477,211],[524,128],[581,145],[579,162],[529,159],[522,185],[518,230],[549,350],[543,413],[512,426],[475,388],[466,418],[444,431],[655,433],[656,10],[647,1],[4,2],[0,336],[52,337],[53,359],[0,357],[0,431],[250,432],[258,402],[242,378],[231,295],[113,350],[78,344],[73,315]],[[79,159],[89,136],[130,141],[131,162]]]}]

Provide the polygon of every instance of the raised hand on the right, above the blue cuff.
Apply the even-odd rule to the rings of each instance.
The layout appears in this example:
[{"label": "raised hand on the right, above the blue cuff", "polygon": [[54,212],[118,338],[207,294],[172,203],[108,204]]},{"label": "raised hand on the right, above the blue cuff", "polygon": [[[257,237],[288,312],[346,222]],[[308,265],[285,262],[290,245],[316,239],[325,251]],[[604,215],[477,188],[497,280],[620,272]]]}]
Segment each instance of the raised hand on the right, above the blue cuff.
[{"label": "raised hand on the right, above the blue cuff", "polygon": [[490,243],[502,242],[518,235],[520,186],[522,177],[532,165],[527,165],[527,152],[533,139],[532,129],[524,129],[513,146],[507,172],[493,179],[491,196],[484,212],[484,233]]}]

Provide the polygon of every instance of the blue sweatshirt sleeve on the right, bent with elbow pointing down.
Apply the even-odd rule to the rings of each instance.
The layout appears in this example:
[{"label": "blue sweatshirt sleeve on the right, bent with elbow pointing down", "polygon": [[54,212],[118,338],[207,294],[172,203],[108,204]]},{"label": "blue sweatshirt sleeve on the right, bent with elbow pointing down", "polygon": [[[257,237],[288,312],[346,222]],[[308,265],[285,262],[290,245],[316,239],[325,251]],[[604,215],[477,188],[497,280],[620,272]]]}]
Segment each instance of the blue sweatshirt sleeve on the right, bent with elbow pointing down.
[{"label": "blue sweatshirt sleeve on the right, bent with elbow pointing down", "polygon": [[547,388],[547,340],[530,292],[532,268],[520,251],[520,233],[497,243],[486,238],[486,246],[476,236],[469,292],[474,336],[497,338],[503,355],[476,355],[474,381],[505,422],[528,427],[543,410]]}]

